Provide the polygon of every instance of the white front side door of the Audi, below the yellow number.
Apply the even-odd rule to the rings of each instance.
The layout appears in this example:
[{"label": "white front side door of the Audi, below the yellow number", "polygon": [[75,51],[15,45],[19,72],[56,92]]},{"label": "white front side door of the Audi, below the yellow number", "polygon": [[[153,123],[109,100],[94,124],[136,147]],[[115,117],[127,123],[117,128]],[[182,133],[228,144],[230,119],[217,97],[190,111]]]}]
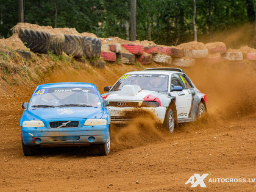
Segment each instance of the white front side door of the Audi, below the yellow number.
[{"label": "white front side door of the Audi, below the yellow number", "polygon": [[180,86],[182,91],[172,91],[172,94],[176,96],[176,108],[178,119],[188,118],[191,108],[191,91],[185,87],[182,80],[182,74],[171,75],[171,87]]}]

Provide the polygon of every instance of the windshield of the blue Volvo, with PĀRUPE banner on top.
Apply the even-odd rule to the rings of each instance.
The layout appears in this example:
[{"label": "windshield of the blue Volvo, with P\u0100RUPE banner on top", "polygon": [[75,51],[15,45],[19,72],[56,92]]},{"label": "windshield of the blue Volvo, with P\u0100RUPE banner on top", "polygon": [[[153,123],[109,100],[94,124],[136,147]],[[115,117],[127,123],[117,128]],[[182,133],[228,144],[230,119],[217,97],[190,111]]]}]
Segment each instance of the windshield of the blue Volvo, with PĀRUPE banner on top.
[{"label": "windshield of the blue Volvo, with P\u0100RUPE banner on top", "polygon": [[35,91],[29,104],[29,108],[38,107],[101,107],[101,101],[93,88],[44,88]]}]

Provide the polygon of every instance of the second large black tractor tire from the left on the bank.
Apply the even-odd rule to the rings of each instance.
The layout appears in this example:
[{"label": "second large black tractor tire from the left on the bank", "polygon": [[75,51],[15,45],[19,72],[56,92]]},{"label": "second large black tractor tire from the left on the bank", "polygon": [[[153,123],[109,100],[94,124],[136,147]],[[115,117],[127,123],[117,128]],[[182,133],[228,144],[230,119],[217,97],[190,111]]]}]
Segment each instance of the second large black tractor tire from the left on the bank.
[{"label": "second large black tractor tire from the left on the bank", "polygon": [[51,34],[50,37],[50,51],[52,51],[55,55],[61,55],[63,52],[65,44],[65,35],[54,35]]}]

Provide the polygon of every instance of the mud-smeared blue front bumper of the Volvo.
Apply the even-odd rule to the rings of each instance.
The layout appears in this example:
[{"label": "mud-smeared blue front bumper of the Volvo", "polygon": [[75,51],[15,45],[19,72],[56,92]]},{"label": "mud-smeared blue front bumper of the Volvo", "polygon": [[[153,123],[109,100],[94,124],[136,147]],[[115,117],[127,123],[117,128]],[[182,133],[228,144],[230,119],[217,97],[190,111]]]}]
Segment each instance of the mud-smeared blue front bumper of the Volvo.
[{"label": "mud-smeared blue front bumper of the Volvo", "polygon": [[22,127],[22,138],[25,145],[99,144],[107,142],[108,127],[109,125],[59,129]]}]

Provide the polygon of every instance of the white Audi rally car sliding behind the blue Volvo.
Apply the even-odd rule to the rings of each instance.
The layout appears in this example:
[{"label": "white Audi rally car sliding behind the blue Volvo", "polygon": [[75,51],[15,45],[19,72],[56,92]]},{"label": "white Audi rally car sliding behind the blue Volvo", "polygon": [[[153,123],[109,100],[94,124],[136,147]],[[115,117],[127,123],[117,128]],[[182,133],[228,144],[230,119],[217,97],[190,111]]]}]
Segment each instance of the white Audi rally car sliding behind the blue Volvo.
[{"label": "white Audi rally car sliding behind the blue Volvo", "polygon": [[170,132],[178,123],[194,121],[207,108],[201,93],[179,68],[148,68],[124,74],[113,87],[104,87],[112,123],[127,123],[126,112],[143,108],[155,114]]}]

